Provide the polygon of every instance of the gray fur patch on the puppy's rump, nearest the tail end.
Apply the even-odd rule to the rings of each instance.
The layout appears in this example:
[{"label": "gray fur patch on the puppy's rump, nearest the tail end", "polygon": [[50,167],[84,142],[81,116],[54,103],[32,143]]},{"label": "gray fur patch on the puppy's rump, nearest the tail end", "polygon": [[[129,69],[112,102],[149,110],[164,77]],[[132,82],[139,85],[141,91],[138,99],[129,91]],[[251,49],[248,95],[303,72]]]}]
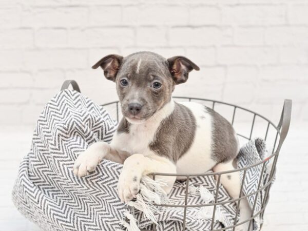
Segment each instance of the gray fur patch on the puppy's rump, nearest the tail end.
[{"label": "gray fur patch on the puppy's rump, nearest the tail end", "polygon": [[238,142],[233,126],[216,111],[206,107],[212,117],[212,153],[217,163],[233,160],[238,154]]}]

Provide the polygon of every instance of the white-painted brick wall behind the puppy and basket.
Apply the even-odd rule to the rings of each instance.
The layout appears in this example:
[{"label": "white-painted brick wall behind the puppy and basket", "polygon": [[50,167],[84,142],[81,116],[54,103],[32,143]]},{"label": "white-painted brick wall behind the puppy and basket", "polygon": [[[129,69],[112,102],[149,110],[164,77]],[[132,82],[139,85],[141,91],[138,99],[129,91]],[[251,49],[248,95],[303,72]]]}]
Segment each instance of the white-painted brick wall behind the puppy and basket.
[{"label": "white-painted brick wall behind the puppy and basket", "polygon": [[186,55],[200,67],[177,95],[214,98],[275,122],[284,98],[308,120],[308,0],[1,0],[0,125],[33,125],[65,79],[98,103],[109,53]]}]

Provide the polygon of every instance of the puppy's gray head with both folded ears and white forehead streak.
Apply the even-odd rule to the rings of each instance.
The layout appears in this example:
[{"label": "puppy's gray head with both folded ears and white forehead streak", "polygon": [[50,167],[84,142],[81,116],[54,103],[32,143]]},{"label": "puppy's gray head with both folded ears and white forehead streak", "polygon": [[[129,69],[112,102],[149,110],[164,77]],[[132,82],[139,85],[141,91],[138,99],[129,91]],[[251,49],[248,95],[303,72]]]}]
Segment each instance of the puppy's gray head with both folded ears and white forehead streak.
[{"label": "puppy's gray head with both folded ears and white forehead streak", "polygon": [[183,56],[165,59],[152,52],[122,57],[110,54],[92,68],[101,67],[108,80],[117,84],[122,113],[130,123],[150,118],[171,99],[175,85],[185,83],[188,73],[199,67]]}]

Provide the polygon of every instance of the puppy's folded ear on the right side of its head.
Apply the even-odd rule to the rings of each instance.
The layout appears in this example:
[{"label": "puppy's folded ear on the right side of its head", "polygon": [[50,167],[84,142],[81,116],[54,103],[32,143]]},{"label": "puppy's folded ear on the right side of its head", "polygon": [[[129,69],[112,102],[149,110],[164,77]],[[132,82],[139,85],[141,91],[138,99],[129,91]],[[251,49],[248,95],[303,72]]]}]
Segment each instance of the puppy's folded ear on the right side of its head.
[{"label": "puppy's folded ear on the right side of its head", "polygon": [[167,59],[169,70],[172,75],[172,79],[176,84],[185,83],[188,79],[188,73],[192,70],[200,70],[200,68],[183,56],[174,56]]}]

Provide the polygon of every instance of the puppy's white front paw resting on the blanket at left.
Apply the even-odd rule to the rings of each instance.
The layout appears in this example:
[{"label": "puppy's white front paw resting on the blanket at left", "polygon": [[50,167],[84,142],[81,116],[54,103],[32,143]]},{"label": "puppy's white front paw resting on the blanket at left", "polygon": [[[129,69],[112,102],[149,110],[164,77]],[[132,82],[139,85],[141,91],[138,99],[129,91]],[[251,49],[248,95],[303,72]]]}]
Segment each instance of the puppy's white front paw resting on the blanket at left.
[{"label": "puppy's white front paw resting on the blanket at left", "polygon": [[89,172],[94,171],[95,167],[102,160],[101,156],[97,152],[92,150],[85,150],[82,152],[74,163],[74,174],[79,177],[84,177]]}]

